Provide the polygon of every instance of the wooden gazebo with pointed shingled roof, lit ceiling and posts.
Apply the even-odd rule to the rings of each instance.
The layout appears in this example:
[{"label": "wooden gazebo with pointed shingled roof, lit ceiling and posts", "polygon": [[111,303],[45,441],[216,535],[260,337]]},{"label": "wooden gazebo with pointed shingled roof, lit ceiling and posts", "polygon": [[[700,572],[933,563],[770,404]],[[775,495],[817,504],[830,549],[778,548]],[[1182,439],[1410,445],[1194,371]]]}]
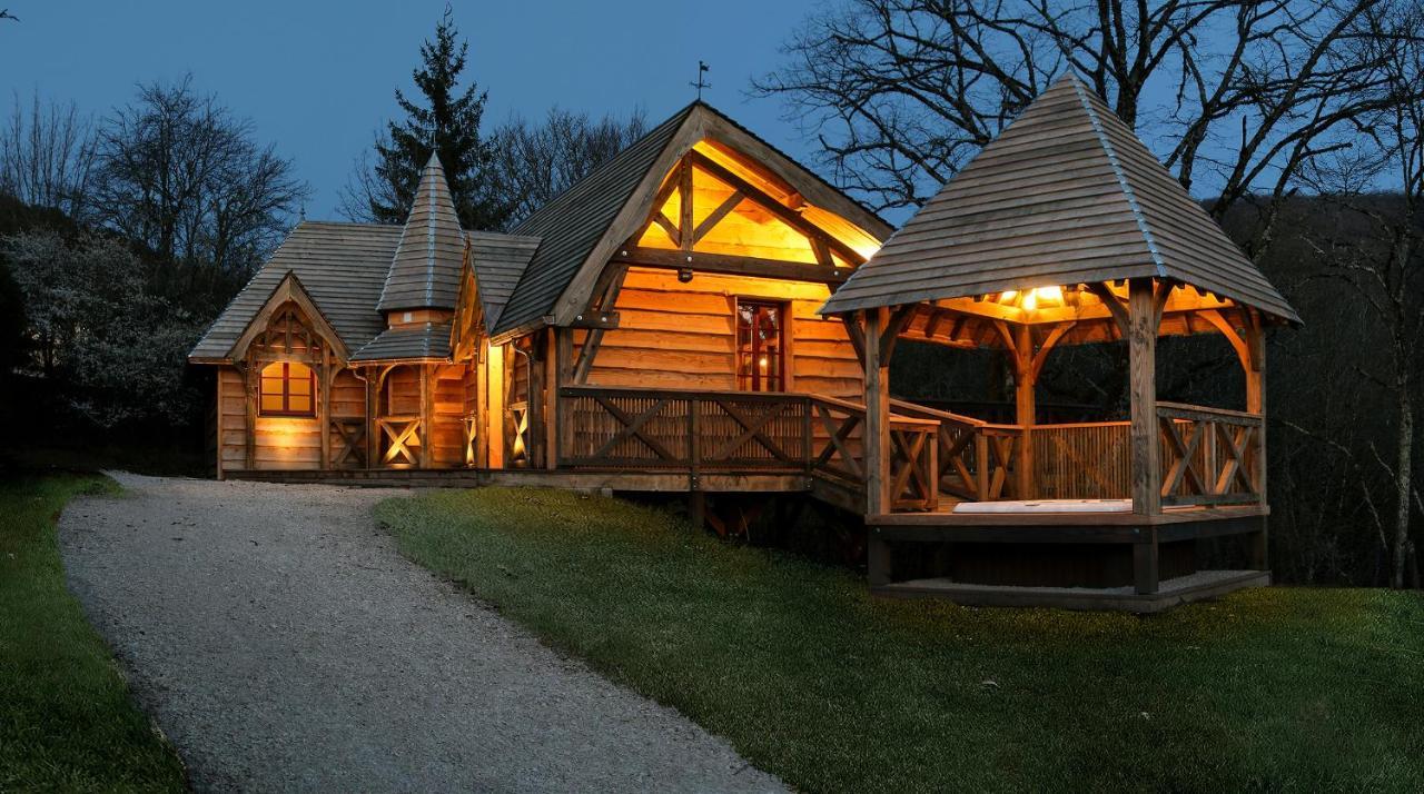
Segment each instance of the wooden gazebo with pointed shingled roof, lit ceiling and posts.
[{"label": "wooden gazebo with pointed shingled roof, lit ceiling and posts", "polygon": [[[1055,344],[1126,339],[1134,512],[1158,514],[1163,498],[1203,505],[1240,501],[1242,494],[1265,508],[1265,467],[1257,465],[1265,448],[1262,332],[1300,317],[1071,73],[862,265],[822,312],[842,316],[859,340],[867,451],[883,461],[891,450],[884,433],[876,438],[876,424],[883,425],[889,408],[896,339],[1007,349],[1017,374],[1017,424],[1025,431],[1034,425],[1034,383]],[[1240,357],[1245,411],[1158,406],[1156,337],[1199,332],[1225,334]],[[1015,467],[1021,497],[1032,495],[1032,447],[1024,435]],[[1219,447],[1227,451],[1218,454]],[[1212,460],[1202,461],[1206,448]],[[1183,492],[1192,498],[1179,498]],[[877,497],[883,505],[886,494],[871,487],[871,514],[881,512]]]}]

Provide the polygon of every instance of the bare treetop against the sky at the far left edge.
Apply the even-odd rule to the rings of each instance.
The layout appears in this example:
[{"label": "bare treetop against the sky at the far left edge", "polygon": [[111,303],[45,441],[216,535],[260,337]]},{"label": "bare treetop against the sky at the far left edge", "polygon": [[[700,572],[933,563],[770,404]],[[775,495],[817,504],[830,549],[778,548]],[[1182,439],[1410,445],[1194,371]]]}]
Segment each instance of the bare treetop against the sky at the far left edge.
[{"label": "bare treetop against the sky at the far left edge", "polygon": [[0,129],[0,192],[83,219],[93,165],[94,124],[74,102],[41,102],[36,92],[24,107],[14,94]]}]

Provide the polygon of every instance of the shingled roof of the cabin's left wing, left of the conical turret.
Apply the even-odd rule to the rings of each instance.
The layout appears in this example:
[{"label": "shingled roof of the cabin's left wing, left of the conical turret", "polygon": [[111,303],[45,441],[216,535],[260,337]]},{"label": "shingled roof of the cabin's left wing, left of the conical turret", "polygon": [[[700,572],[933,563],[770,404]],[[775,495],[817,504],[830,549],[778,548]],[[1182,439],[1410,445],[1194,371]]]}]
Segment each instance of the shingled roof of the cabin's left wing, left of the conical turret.
[{"label": "shingled roof of the cabin's left wing, left of the conical turret", "polygon": [[376,312],[376,300],[399,240],[400,226],[298,223],[198,340],[189,360],[226,360],[248,323],[288,273],[302,282],[346,347],[359,350],[386,327],[384,317]]}]

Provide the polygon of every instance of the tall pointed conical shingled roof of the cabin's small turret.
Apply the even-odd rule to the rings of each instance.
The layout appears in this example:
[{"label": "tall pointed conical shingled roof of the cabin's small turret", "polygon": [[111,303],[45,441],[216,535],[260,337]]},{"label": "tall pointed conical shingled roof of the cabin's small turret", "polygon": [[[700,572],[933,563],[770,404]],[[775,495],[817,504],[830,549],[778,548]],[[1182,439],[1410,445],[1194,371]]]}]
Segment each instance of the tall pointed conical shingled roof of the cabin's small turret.
[{"label": "tall pointed conical shingled roof of the cabin's small turret", "polygon": [[400,246],[390,260],[380,312],[456,307],[460,296],[460,268],[464,263],[464,232],[450,198],[444,168],[434,154],[420,172],[410,216],[400,233]]}]

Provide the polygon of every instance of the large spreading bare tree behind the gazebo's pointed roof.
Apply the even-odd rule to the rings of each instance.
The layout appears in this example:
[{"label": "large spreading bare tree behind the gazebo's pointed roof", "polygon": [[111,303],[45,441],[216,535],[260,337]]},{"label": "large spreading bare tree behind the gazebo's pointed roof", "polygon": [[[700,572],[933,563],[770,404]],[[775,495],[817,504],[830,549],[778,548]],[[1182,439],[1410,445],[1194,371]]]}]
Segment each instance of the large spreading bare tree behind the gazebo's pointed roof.
[{"label": "large spreading bare tree behind the gazebo's pointed roof", "polygon": [[[755,91],[785,100],[834,178],[886,209],[926,201],[1071,67],[1189,189],[1210,171],[1222,216],[1284,195],[1302,162],[1343,145],[1333,132],[1388,102],[1380,64],[1346,46],[1378,3],[853,0],[812,18]],[[1153,84],[1165,107],[1146,104]]]}]

